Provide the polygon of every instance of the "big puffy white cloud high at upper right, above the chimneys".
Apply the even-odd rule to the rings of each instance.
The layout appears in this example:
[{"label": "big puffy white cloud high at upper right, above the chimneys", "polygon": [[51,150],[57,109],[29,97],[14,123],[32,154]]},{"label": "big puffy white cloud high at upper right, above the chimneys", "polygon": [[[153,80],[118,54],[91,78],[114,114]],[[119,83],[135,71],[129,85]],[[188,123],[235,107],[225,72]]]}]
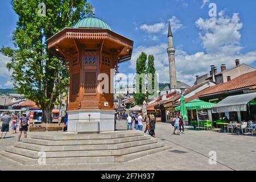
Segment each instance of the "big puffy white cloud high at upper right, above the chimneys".
[{"label": "big puffy white cloud high at upper right, above the chimneys", "polygon": [[241,34],[243,24],[237,13],[232,17],[225,16],[223,11],[219,17],[196,20],[196,26],[200,29],[200,38],[203,47],[208,52],[218,51],[240,51]]}]

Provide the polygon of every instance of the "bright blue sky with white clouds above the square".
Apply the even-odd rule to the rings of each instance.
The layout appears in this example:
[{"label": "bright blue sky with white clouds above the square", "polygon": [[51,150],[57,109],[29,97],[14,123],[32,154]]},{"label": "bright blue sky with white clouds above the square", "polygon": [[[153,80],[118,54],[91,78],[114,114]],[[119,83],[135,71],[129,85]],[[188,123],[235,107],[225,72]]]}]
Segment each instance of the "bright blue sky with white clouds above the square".
[{"label": "bright blue sky with white clouds above the square", "polygon": [[[210,65],[234,66],[235,59],[256,67],[256,1],[238,0],[90,0],[96,18],[105,20],[112,30],[134,40],[133,57],[120,65],[122,73],[135,72],[141,51],[155,56],[160,82],[169,82],[167,23],[171,20],[176,47],[177,78],[192,84],[196,75],[208,73]],[[202,7],[202,5],[205,5]],[[217,5],[217,17],[210,17],[208,5]],[[11,34],[17,16],[10,1],[0,7],[0,46],[13,46]],[[0,88],[11,88],[7,58],[0,55]]]}]

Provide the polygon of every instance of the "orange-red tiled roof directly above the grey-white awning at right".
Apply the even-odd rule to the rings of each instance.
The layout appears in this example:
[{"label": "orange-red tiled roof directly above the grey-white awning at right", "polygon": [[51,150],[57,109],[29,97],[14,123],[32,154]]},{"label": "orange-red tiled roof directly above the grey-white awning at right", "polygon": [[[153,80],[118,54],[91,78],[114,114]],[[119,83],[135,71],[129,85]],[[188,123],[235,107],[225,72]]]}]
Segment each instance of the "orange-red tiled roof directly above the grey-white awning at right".
[{"label": "orange-red tiled roof directly above the grey-white awning at right", "polygon": [[209,89],[203,90],[201,96],[254,86],[256,86],[256,71],[245,73],[229,82],[211,86]]}]

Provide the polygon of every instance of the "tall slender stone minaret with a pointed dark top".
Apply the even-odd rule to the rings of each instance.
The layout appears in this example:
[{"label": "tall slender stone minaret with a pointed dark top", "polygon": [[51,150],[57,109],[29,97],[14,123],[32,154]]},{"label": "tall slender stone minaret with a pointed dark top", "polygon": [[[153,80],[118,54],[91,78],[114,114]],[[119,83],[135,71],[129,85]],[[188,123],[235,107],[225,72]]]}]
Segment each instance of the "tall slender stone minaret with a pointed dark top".
[{"label": "tall slender stone minaret with a pointed dark top", "polygon": [[169,67],[170,67],[170,83],[171,90],[177,88],[177,77],[176,77],[176,65],[175,65],[175,48],[172,36],[171,23],[169,21],[168,30],[168,55],[169,55]]}]

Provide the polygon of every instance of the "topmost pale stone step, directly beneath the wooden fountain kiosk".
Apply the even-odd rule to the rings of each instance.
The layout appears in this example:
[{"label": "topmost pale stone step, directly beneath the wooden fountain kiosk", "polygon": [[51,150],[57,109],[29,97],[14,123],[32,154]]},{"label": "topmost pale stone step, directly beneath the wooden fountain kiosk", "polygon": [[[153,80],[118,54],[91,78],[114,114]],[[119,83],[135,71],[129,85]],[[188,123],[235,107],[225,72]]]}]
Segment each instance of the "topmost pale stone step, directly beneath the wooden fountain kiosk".
[{"label": "topmost pale stone step, directly beneath the wooden fountain kiosk", "polygon": [[89,139],[115,139],[126,137],[143,136],[144,133],[138,130],[120,131],[113,133],[100,133],[100,134],[75,134],[75,133],[61,133],[55,135],[54,133],[32,134],[31,138],[44,139],[44,140],[89,140]]}]

